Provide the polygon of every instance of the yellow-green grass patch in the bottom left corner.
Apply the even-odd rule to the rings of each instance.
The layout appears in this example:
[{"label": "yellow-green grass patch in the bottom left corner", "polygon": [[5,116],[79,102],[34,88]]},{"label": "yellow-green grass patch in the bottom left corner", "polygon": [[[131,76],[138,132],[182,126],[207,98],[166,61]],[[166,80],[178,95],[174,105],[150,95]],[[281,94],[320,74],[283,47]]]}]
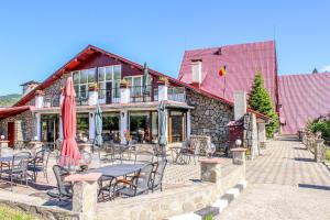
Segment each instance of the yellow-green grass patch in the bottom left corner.
[{"label": "yellow-green grass patch in the bottom left corner", "polygon": [[37,220],[37,218],[19,209],[0,205],[0,220]]}]

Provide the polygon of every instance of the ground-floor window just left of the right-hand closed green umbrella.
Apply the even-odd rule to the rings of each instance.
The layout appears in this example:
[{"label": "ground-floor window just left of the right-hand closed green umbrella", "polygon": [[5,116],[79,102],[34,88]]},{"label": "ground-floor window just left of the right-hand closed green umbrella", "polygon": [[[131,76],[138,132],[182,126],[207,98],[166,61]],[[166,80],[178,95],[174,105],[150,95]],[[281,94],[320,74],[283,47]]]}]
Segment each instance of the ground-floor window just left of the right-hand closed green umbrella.
[{"label": "ground-floor window just left of the right-hand closed green umbrella", "polygon": [[130,112],[130,134],[139,143],[155,142],[158,138],[157,112]]}]

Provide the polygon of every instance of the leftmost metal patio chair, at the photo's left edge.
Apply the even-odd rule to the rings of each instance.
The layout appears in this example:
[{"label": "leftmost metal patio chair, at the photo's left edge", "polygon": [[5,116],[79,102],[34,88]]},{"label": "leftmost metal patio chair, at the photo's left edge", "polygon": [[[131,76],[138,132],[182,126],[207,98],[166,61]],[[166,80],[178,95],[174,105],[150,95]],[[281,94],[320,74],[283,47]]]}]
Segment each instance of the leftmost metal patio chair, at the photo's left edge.
[{"label": "leftmost metal patio chair, at the photo's left edge", "polygon": [[25,182],[25,185],[28,186],[28,164],[30,160],[31,154],[29,152],[20,152],[13,155],[12,162],[8,169],[2,170],[3,174],[7,174],[10,179],[10,187],[12,190],[13,179],[21,180],[21,184],[23,184],[23,180]]}]

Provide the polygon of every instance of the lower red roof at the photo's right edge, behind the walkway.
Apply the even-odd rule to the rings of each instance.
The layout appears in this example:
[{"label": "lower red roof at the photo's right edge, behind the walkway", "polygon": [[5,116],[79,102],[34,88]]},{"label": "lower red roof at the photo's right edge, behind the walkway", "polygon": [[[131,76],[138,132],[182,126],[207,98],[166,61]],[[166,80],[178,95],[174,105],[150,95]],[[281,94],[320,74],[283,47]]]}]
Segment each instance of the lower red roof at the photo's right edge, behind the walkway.
[{"label": "lower red roof at the photo's right edge, behind the walkway", "polygon": [[279,76],[278,91],[283,134],[295,134],[308,119],[330,112],[330,74]]}]

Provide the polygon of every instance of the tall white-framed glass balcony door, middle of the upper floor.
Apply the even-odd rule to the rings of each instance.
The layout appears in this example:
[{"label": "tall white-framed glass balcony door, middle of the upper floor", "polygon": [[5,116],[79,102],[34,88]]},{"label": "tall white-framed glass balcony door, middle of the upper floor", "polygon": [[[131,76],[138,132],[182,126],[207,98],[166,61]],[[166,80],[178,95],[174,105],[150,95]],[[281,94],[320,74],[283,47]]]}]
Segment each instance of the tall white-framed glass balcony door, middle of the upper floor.
[{"label": "tall white-framed glass balcony door, middle of the upper floor", "polygon": [[101,103],[119,102],[121,79],[121,65],[98,68],[99,99]]}]

